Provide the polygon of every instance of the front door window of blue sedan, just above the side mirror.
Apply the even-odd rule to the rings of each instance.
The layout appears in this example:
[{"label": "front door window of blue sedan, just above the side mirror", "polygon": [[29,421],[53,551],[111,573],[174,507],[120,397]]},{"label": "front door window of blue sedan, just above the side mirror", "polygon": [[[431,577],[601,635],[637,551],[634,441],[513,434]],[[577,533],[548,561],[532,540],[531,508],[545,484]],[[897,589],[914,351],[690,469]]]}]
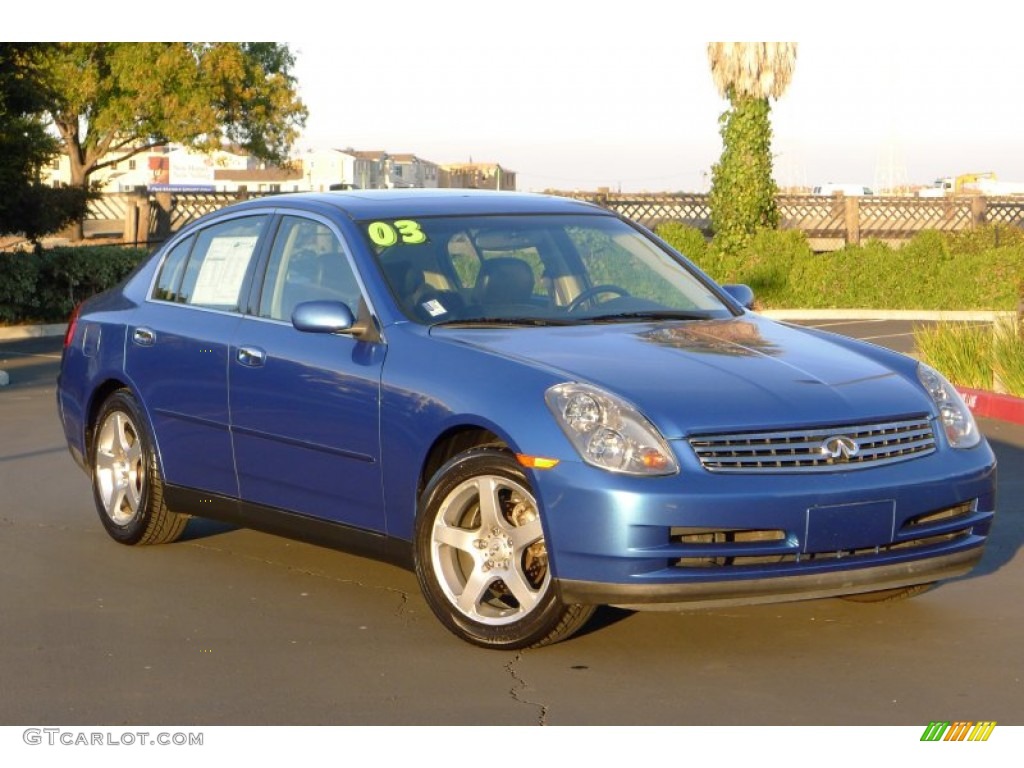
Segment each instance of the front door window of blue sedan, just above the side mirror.
[{"label": "front door window of blue sedan, just above the side mirror", "polygon": [[285,216],[260,295],[261,317],[291,322],[304,301],[341,301],[358,311],[359,284],[334,231],[318,221]]}]

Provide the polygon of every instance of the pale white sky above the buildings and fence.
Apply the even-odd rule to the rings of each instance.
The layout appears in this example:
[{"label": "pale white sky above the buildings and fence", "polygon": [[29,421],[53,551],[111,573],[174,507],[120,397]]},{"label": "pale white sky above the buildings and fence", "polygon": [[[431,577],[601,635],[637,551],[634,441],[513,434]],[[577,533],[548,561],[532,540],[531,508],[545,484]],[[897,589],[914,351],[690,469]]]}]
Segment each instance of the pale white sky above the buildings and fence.
[{"label": "pale white sky above the buildings and fence", "polygon": [[[66,15],[45,6],[46,29]],[[709,40],[799,42],[772,105],[781,185],[1024,182],[1024,5],[968,0],[375,0],[211,4],[97,18],[65,39],[285,38],[297,150],[498,162],[525,190],[702,190],[721,153]],[[189,12],[190,11],[190,12]],[[29,11],[31,12],[31,11]],[[202,19],[200,24],[198,19]],[[13,22],[12,37],[38,34]],[[76,15],[75,23],[79,18]],[[17,26],[24,26],[19,31]]]}]

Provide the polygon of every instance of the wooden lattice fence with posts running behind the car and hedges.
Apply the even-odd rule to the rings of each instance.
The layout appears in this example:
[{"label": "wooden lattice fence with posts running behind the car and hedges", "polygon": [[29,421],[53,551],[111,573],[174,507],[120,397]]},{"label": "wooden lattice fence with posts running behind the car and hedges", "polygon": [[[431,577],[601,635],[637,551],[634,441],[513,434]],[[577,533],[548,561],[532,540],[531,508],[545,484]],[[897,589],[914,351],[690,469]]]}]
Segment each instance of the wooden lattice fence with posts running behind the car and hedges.
[{"label": "wooden lattice fence with posts running behind the car and hedges", "polygon": [[[681,221],[711,236],[707,195],[610,195],[560,193],[615,211],[649,227]],[[252,193],[156,193],[104,195],[90,207],[87,232],[120,237],[123,242],[161,243],[200,216]],[[782,227],[802,229],[811,247],[830,251],[846,244],[878,239],[893,244],[922,229],[955,231],[985,223],[1024,227],[1024,198],[824,198],[809,195],[778,198]]]}]

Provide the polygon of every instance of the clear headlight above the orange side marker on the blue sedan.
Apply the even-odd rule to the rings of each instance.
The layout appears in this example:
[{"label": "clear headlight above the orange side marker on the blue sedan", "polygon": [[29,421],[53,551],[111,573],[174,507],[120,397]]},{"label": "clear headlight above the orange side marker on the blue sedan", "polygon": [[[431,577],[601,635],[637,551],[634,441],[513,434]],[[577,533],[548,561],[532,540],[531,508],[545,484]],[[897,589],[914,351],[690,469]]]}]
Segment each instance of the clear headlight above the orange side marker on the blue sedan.
[{"label": "clear headlight above the orange side marker on the blue sedan", "polygon": [[588,384],[568,383],[551,387],[544,398],[588,464],[631,475],[679,471],[654,425],[621,397]]}]

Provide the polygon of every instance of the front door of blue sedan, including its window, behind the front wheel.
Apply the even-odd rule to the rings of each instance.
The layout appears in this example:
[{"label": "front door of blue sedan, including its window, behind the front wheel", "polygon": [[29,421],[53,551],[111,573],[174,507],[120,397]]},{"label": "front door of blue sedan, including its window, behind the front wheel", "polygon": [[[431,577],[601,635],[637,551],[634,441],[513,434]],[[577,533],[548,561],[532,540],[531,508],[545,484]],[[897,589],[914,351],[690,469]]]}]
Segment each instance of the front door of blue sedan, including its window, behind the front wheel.
[{"label": "front door of blue sedan, including its window, behind the front wheel", "polygon": [[326,220],[282,216],[258,307],[236,330],[228,390],[242,499],[385,529],[379,404],[385,346],[304,333],[296,305],[362,300],[343,241]]}]

